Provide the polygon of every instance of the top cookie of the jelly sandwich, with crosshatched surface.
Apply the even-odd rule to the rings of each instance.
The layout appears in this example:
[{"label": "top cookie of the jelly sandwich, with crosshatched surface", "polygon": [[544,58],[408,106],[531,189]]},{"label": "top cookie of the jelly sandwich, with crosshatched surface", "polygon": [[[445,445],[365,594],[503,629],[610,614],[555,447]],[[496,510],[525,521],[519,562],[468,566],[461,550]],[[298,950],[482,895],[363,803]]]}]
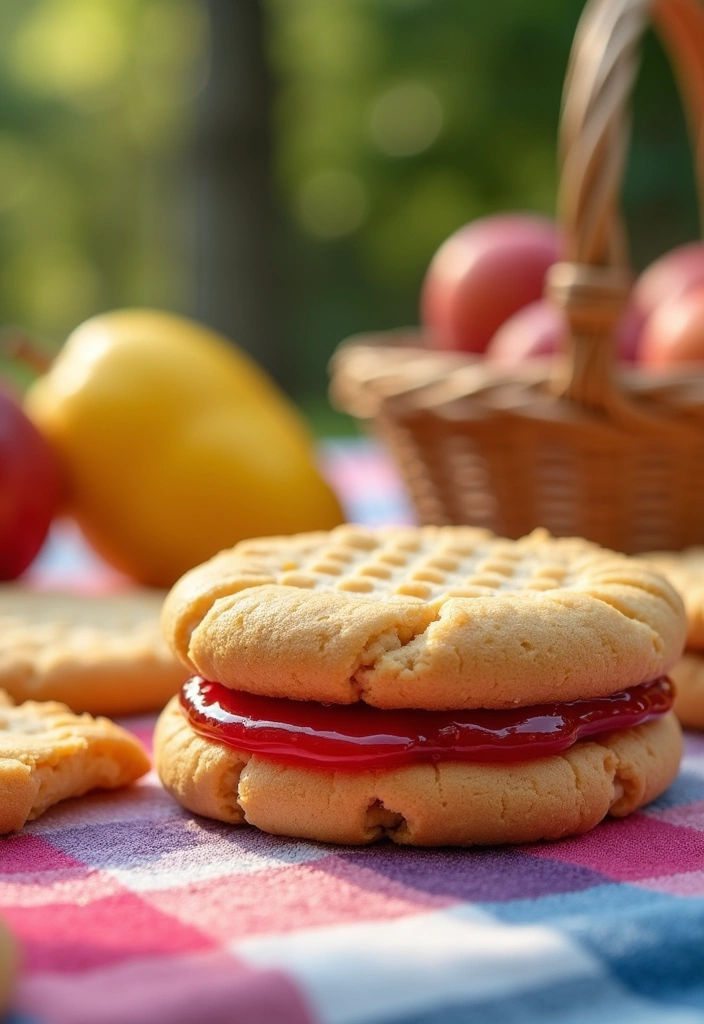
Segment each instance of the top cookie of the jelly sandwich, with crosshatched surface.
[{"label": "top cookie of the jelly sandwich, with crosshatched surface", "polygon": [[428,710],[605,696],[666,673],[687,625],[625,555],[470,526],[245,541],[182,577],[162,624],[225,686]]}]

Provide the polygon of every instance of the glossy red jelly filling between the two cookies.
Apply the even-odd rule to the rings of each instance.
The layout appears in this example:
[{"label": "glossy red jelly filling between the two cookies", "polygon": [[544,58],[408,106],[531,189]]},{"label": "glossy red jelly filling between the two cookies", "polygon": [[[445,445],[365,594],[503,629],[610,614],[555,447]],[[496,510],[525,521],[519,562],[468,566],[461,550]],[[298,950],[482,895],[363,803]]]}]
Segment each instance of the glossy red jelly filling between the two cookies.
[{"label": "glossy red jelly filling between the two cookies", "polygon": [[181,691],[183,711],[204,736],[291,764],[345,771],[546,757],[586,736],[664,715],[672,698],[666,678],[592,700],[501,711],[381,711],[260,697],[200,676]]}]

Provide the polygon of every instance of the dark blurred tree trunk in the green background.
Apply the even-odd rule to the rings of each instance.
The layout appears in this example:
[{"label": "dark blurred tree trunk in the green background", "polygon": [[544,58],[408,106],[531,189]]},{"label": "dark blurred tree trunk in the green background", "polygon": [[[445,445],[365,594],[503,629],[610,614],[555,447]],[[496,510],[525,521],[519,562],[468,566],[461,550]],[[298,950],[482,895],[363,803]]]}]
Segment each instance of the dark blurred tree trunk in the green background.
[{"label": "dark blurred tree trunk in the green background", "polygon": [[207,6],[211,68],[194,161],[195,314],[285,386],[264,14],[259,0],[207,0]]}]

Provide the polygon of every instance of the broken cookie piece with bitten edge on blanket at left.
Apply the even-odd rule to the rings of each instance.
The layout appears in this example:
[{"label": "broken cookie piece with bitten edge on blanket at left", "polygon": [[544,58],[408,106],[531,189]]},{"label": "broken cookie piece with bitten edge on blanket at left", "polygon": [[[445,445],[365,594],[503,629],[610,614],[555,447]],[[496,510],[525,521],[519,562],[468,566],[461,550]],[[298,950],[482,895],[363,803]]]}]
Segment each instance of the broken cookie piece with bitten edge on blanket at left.
[{"label": "broken cookie piece with bitten edge on blanket at left", "polygon": [[53,700],[15,707],[0,690],[0,835],[60,800],[119,788],[148,770],[140,744],[114,722]]}]

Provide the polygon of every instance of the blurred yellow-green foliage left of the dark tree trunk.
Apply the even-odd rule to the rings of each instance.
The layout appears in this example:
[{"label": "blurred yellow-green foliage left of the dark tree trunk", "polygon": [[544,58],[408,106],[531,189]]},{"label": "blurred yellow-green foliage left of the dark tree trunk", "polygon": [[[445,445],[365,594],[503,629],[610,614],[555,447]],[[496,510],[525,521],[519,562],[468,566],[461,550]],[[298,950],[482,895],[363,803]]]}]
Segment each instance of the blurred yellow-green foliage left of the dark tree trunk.
[{"label": "blurred yellow-green foliage left of the dark tree trunk", "polygon": [[191,0],[3,0],[5,323],[58,343],[100,309],[187,305],[174,200],[206,49]]}]

